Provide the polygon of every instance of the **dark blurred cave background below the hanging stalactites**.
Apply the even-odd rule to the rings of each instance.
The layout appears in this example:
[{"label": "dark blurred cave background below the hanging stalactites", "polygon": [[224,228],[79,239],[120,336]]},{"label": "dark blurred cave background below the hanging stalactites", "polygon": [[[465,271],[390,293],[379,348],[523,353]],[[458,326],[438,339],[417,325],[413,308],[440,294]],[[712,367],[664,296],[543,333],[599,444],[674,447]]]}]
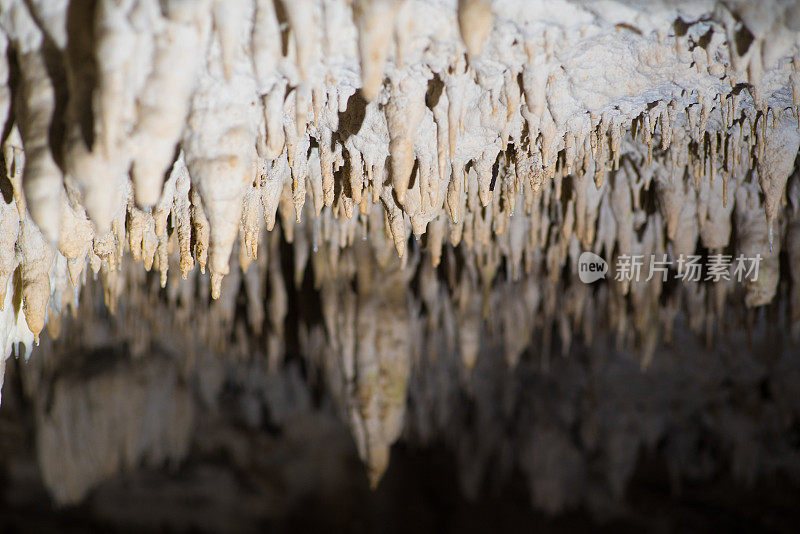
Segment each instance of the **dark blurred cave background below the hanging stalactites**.
[{"label": "dark blurred cave background below the hanging stalactites", "polygon": [[[797,531],[800,348],[785,298],[721,322],[713,344],[679,315],[646,368],[611,335],[564,350],[555,332],[549,351],[535,335],[510,367],[502,332],[484,323],[473,369],[444,349],[414,360],[404,430],[371,490],[343,400],[298,335],[321,323],[319,293],[310,269],[291,283],[282,246],[277,368],[246,328],[244,290],[232,315],[220,301],[176,308],[136,265],[126,283],[143,289],[115,313],[90,281],[59,336],[7,361],[0,530]],[[101,473],[96,443],[128,428],[138,415],[120,404],[142,396],[155,441]],[[111,426],[85,425],[93,414]],[[154,452],[184,420],[177,452]],[[65,473],[91,478],[77,502],[59,502]]]}]

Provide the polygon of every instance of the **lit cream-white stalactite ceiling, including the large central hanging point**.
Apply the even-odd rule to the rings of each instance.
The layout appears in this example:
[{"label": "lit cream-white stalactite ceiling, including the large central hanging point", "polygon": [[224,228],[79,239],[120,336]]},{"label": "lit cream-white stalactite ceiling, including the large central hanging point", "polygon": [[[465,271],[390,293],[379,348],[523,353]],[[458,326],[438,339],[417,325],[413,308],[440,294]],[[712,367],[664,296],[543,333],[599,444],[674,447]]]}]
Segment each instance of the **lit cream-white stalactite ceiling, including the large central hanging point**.
[{"label": "lit cream-white stalactite ceiling, including the large central hanging point", "polygon": [[[511,364],[535,331],[548,355],[611,331],[646,364],[679,310],[713,341],[787,266],[797,328],[800,9],[534,4],[2,0],[0,362],[91,276],[112,312],[166,298],[161,328],[273,367],[292,336],[337,362],[377,482],[420,328],[468,369],[497,317]],[[763,262],[589,286],[585,250]],[[286,332],[287,263],[324,331]]]}]

